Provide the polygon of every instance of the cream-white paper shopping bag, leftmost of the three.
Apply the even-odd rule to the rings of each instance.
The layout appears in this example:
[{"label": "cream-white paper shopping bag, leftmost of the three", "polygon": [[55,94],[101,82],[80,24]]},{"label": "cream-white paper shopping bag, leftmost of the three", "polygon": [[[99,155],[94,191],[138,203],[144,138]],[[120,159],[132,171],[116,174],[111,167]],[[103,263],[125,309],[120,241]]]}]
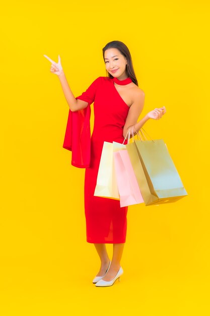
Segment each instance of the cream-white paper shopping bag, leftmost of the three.
[{"label": "cream-white paper shopping bag, leftmost of the three", "polygon": [[[125,148],[125,145],[115,142],[115,150]],[[94,196],[119,200],[115,166],[113,161],[113,143],[104,141],[101,160],[97,175]]]}]

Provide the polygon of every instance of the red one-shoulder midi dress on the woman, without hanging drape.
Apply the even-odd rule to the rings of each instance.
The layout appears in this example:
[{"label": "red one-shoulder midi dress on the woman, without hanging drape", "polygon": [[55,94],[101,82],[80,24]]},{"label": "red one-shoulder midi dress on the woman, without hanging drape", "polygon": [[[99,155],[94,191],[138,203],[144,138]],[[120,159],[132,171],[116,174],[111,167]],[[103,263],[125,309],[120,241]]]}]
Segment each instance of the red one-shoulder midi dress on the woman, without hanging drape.
[{"label": "red one-shoulder midi dress on the woman, without hanging drape", "polygon": [[[114,86],[113,78],[98,77],[76,97],[94,102],[94,129],[91,136],[91,163],[85,171],[86,236],[89,243],[124,243],[127,209],[119,200],[94,196],[104,141],[122,143],[129,107]],[[126,141],[125,141],[126,143]]]}]

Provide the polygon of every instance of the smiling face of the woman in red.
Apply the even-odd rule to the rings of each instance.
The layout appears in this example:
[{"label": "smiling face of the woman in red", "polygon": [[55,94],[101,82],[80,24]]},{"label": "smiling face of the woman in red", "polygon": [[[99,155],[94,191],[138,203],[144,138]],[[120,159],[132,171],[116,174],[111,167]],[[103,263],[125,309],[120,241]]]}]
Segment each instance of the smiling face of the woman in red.
[{"label": "smiling face of the woman in red", "polygon": [[[127,77],[126,74],[126,58],[117,48],[108,48],[104,52],[106,70],[113,77],[120,77],[121,80]],[[125,78],[124,78],[125,77]]]}]

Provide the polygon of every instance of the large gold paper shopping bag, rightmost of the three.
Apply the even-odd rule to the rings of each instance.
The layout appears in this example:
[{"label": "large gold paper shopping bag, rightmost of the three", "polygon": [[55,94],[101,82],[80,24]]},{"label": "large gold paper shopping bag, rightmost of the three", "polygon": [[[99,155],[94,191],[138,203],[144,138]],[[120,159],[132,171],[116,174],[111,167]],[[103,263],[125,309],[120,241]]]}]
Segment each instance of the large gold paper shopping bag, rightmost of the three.
[{"label": "large gold paper shopping bag, rightmost of the three", "polygon": [[163,139],[134,139],[126,149],[146,205],[175,202],[188,195]]}]

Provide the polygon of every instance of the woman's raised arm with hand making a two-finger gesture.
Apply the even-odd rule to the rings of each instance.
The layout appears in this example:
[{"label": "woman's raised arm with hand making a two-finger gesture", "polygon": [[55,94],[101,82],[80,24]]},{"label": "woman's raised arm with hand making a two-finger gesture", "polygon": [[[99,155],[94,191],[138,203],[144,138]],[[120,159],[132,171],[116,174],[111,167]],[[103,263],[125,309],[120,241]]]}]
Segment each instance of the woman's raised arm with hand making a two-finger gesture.
[{"label": "woman's raised arm with hand making a two-finger gesture", "polygon": [[62,87],[64,96],[65,96],[65,99],[68,103],[69,109],[72,112],[76,112],[76,111],[87,108],[88,102],[86,102],[84,100],[76,99],[74,94],[72,93],[72,90],[70,89],[70,87],[68,85],[67,79],[65,77],[65,74],[64,74],[62,66],[61,66],[60,56],[58,55],[58,63],[52,61],[46,55],[44,55],[44,57],[46,57],[46,59],[48,59],[48,61],[50,61],[52,63],[50,71],[51,71],[51,73],[58,76],[60,83],[61,83],[61,87]]}]

